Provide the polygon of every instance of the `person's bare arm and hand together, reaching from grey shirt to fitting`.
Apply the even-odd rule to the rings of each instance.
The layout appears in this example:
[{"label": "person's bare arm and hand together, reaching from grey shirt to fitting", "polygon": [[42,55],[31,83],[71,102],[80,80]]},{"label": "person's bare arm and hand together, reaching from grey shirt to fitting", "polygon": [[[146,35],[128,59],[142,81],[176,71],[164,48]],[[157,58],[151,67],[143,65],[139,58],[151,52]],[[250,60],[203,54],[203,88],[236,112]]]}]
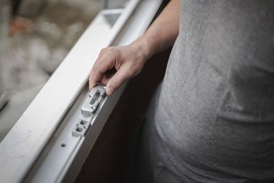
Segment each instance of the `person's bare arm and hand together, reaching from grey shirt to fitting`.
[{"label": "person's bare arm and hand together, reaching from grey shirt to fitting", "polygon": [[138,75],[153,54],[171,47],[179,34],[179,3],[170,1],[147,32],[132,44],[102,49],[90,72],[89,90],[99,82],[106,85],[107,95],[112,95],[125,80]]}]

